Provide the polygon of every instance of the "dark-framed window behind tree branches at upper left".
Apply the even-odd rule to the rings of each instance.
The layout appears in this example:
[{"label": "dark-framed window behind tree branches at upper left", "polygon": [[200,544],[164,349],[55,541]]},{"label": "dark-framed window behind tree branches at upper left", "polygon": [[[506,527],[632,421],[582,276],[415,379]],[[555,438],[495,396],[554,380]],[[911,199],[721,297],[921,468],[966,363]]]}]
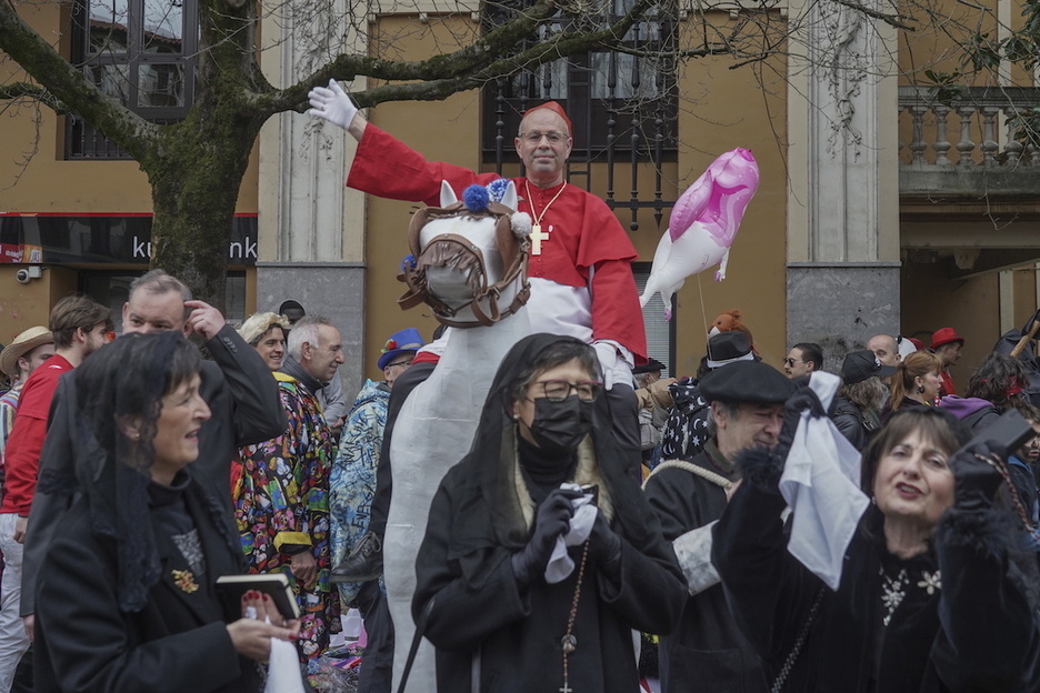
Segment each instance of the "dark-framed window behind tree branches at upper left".
[{"label": "dark-framed window behind tree branches at upper left", "polygon": [[[109,97],[158,123],[191,107],[199,46],[197,0],[74,0],[72,63]],[[66,130],[67,159],[128,159],[76,116]]]}]

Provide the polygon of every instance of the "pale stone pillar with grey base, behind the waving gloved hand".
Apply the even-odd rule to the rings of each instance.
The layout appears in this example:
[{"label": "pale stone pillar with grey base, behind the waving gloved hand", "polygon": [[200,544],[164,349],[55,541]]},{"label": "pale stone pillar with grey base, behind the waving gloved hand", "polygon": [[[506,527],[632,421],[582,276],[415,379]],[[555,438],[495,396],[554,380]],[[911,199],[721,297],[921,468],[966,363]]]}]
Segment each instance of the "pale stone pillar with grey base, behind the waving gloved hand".
[{"label": "pale stone pillar with grey base, behind the waving gloved hand", "polygon": [[[278,4],[261,31],[267,78],[288,87],[340,52],[363,54],[363,37],[351,18],[343,0]],[[336,322],[343,334],[340,378],[348,395],[363,373],[364,195],[343,187],[356,148],[340,128],[300,113],[271,118],[260,133],[257,308],[276,310],[296,299],[308,314]]]}]

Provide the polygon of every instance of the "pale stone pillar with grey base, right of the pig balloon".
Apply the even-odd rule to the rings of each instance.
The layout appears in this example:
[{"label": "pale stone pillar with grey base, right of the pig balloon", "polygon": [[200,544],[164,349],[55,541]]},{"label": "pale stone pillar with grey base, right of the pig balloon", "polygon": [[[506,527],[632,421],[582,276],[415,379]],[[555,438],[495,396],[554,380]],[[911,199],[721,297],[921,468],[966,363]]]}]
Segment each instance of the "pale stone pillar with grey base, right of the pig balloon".
[{"label": "pale stone pillar with grey base, right of the pig balloon", "polygon": [[788,91],[787,338],[822,344],[837,370],[899,332],[896,37],[837,2],[791,11],[804,29]]}]

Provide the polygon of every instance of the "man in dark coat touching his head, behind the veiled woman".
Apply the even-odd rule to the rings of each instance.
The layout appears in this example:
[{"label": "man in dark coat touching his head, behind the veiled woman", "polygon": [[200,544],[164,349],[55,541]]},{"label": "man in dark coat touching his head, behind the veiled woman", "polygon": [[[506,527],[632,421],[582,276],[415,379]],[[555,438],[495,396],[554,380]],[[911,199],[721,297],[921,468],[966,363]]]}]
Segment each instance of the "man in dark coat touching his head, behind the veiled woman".
[{"label": "man in dark coat touching his head, behind the veiled woman", "polygon": [[[196,333],[212,361],[202,363],[200,394],[212,412],[199,433],[199,459],[192,474],[227,510],[227,529],[238,534],[231,508],[231,461],[238,448],[270,440],[286,430],[286,414],[278,398],[278,383],[260,354],[229,327],[212,305],[191,299],[190,290],[162,270],[152,270],[130,284],[122,309],[123,333],[180,330]],[[78,436],[76,422],[76,371],[62,378],[51,404],[47,439],[40,455],[40,482],[70,478],[74,461],[98,455],[98,443]],[[100,459],[96,456],[96,459]],[[60,486],[61,484],[57,484]],[[32,636],[38,573],[53,538],[54,528],[72,503],[74,486],[41,492],[32,501],[26,535],[22,569],[21,615]]]}]

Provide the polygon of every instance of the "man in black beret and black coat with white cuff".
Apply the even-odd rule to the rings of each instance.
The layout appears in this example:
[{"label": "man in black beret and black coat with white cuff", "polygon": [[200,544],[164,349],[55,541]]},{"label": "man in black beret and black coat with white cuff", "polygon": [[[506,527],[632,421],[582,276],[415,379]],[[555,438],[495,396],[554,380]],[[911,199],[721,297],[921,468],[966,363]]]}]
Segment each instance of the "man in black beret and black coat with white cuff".
[{"label": "man in black beret and black coat with white cuff", "polygon": [[783,402],[794,384],[764,363],[741,361],[704,375],[700,389],[711,412],[704,450],[689,461],[662,462],[646,484],[690,593],[679,626],[661,639],[662,690],[764,692],[761,662],[730,614],[711,565],[711,526],[740,479],[737,454],[777,444]]}]

